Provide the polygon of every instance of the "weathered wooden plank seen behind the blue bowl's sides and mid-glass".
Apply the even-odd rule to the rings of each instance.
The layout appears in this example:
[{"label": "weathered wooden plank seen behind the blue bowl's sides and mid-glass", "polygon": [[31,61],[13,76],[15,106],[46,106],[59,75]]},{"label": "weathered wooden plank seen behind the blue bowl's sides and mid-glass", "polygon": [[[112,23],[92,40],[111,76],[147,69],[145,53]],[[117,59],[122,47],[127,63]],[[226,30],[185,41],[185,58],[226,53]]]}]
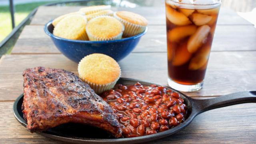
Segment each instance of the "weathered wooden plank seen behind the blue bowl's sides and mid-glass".
[{"label": "weathered wooden plank seen behind the blue bowl's sides and mid-glass", "polygon": [[[217,26],[212,51],[256,50],[256,29],[253,26]],[[133,52],[166,52],[165,26],[148,26]],[[25,26],[12,54],[60,53],[43,26]]]}]

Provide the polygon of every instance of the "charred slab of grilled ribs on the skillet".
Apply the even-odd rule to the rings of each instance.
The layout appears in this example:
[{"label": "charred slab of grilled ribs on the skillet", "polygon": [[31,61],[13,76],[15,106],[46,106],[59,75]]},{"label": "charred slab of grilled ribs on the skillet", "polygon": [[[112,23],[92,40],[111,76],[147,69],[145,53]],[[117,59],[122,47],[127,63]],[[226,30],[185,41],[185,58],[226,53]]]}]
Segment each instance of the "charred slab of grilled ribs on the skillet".
[{"label": "charred slab of grilled ribs on the skillet", "polygon": [[72,72],[52,68],[28,68],[23,72],[23,114],[30,132],[60,124],[90,124],[122,136],[112,108]]}]

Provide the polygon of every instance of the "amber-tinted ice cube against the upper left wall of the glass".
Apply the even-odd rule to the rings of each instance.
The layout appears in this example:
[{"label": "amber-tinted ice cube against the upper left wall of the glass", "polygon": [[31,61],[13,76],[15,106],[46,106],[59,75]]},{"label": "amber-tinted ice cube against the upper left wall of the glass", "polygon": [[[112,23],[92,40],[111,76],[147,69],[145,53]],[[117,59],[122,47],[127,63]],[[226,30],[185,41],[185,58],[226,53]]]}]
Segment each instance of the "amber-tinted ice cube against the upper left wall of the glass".
[{"label": "amber-tinted ice cube against the upper left wall of the glass", "polygon": [[191,23],[188,17],[183,13],[170,8],[170,6],[166,6],[166,18],[178,26],[184,26]]}]

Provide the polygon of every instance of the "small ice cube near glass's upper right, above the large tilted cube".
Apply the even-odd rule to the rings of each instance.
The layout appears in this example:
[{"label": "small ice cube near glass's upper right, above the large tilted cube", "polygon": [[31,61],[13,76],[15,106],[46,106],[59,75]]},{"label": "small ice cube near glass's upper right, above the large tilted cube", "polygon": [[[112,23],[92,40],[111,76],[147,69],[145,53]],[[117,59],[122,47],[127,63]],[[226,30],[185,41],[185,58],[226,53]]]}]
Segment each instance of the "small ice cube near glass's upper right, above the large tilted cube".
[{"label": "small ice cube near glass's upper right, above the large tilted cube", "polygon": [[196,13],[191,15],[191,19],[197,26],[202,26],[210,22],[210,20],[212,20],[212,16]]}]

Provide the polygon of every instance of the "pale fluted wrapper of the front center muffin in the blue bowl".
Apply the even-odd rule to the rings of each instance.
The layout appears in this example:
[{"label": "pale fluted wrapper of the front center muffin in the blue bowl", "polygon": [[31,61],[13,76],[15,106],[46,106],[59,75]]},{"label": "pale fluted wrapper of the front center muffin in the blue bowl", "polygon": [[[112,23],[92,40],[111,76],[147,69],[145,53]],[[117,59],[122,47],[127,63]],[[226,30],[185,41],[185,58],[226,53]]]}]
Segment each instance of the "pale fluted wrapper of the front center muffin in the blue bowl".
[{"label": "pale fluted wrapper of the front center muffin in the blue bowl", "polygon": [[[96,18],[99,18],[99,17],[112,17],[112,16],[97,16]],[[114,18],[114,17],[112,17],[112,18]],[[93,20],[93,19],[94,18],[92,18],[91,20]],[[122,24],[122,22],[121,22],[121,24]],[[120,34],[118,34],[117,36],[113,36],[111,38],[104,38],[104,37],[93,36],[92,34],[90,34],[89,30],[86,27],[86,33],[87,33],[90,41],[120,40],[120,39],[122,39],[123,32],[124,32],[124,24],[122,24],[122,30],[121,30]]]}]

